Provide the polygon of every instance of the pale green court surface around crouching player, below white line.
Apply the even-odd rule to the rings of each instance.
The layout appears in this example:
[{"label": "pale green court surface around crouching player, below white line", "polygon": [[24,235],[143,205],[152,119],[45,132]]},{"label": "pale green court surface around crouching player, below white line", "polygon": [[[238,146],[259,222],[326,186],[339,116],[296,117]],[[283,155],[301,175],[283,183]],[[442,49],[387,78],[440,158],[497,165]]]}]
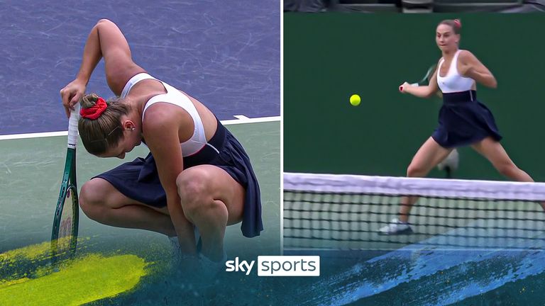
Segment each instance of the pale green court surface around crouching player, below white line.
[{"label": "pale green court surface around crouching player, below white line", "polygon": [[[227,228],[228,257],[280,254],[280,122],[228,125],[251,158],[261,188],[263,225],[260,237],[242,236],[240,224]],[[92,176],[136,157],[148,149],[136,147],[124,160],[100,159],[77,149],[78,186]],[[66,156],[66,136],[0,141],[0,253],[50,240]],[[141,254],[150,243],[170,248],[162,234],[120,229],[89,220],[80,211],[79,237],[101,251]],[[243,246],[243,247],[242,247]],[[163,250],[164,251],[164,250]],[[153,256],[152,256],[153,257]]]}]

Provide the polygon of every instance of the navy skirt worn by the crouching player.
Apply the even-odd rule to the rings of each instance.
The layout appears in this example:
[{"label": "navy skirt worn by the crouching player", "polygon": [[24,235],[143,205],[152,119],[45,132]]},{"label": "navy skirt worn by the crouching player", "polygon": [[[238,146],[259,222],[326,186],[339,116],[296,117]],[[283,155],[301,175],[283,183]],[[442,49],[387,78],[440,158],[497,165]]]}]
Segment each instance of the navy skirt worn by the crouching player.
[{"label": "navy skirt worn by the crouching player", "polygon": [[[211,164],[224,169],[246,189],[241,230],[246,237],[255,237],[263,230],[261,220],[261,196],[258,179],[252,169],[248,154],[236,138],[218,120],[216,133],[209,146],[190,157],[184,157],[184,168],[199,164]],[[95,176],[109,181],[124,196],[156,208],[167,205],[167,196],[159,181],[155,159],[151,154],[133,162],[121,164],[110,171]]]}]

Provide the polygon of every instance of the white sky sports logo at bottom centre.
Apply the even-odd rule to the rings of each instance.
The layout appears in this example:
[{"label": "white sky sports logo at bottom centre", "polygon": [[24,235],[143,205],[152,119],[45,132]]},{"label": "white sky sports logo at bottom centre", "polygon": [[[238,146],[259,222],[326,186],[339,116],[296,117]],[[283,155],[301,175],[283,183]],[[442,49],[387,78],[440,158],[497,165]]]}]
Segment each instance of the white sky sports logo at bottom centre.
[{"label": "white sky sports logo at bottom centre", "polygon": [[243,272],[250,275],[253,268],[258,276],[320,276],[320,256],[258,256],[258,263],[238,257],[226,261],[226,272]]}]

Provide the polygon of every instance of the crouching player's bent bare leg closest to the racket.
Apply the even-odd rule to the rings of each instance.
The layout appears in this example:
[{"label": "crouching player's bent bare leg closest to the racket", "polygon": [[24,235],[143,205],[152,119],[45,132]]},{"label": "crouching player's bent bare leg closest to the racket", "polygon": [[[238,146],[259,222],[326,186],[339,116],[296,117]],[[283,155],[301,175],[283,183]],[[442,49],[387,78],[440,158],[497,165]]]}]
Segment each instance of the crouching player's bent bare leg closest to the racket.
[{"label": "crouching player's bent bare leg closest to the racket", "polygon": [[79,192],[79,206],[87,217],[104,225],[147,229],[176,236],[167,208],[152,208],[123,196],[104,179],[84,183]]}]

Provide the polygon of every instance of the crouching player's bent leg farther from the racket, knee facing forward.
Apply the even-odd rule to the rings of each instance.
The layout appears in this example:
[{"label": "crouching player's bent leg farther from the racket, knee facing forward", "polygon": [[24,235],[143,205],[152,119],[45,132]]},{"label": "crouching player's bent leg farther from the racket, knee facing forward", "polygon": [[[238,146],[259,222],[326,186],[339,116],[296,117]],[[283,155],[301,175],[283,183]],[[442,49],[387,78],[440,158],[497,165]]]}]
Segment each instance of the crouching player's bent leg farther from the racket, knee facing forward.
[{"label": "crouching player's bent leg farther from the racket, knee facing forward", "polygon": [[243,217],[243,186],[213,165],[185,169],[176,184],[184,214],[201,234],[202,254],[221,260],[226,226],[241,222]]}]

